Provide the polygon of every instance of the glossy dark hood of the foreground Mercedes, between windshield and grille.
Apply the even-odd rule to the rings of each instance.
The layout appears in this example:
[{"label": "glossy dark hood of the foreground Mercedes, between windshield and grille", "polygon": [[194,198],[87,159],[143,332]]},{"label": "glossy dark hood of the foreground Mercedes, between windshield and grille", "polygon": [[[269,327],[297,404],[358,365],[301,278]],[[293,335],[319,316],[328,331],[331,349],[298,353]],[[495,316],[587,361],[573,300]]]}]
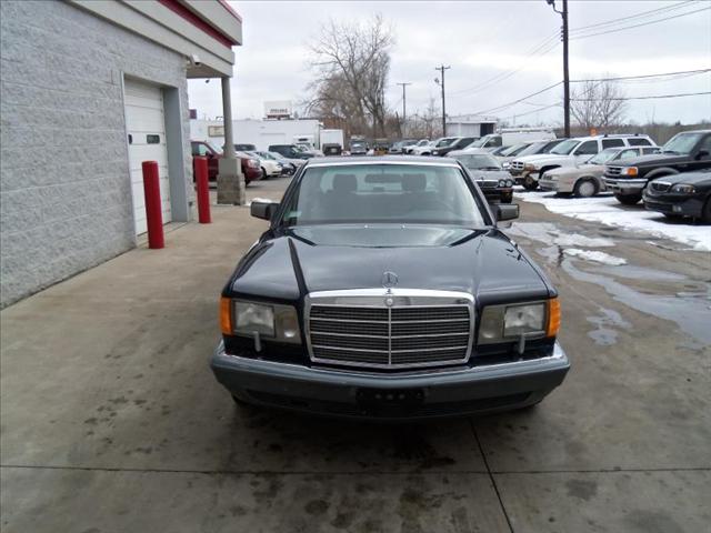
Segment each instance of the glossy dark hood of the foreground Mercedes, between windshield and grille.
[{"label": "glossy dark hood of the foreground Mercedes, between windshield and grille", "polygon": [[397,274],[398,288],[462,291],[482,303],[553,293],[499,230],[374,224],[268,232],[240,261],[226,295],[298,301],[317,291],[380,288],[384,272]]}]

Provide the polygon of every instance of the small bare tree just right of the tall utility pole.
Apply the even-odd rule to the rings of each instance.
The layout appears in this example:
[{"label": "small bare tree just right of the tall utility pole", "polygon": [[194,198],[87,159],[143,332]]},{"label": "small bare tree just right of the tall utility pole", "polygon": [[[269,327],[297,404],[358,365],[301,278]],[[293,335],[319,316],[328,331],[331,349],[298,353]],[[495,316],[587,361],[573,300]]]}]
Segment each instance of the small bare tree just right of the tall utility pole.
[{"label": "small bare tree just right of the tall utility pole", "polygon": [[622,123],[627,108],[623,91],[610,81],[585,81],[571,94],[570,112],[587,130]]}]

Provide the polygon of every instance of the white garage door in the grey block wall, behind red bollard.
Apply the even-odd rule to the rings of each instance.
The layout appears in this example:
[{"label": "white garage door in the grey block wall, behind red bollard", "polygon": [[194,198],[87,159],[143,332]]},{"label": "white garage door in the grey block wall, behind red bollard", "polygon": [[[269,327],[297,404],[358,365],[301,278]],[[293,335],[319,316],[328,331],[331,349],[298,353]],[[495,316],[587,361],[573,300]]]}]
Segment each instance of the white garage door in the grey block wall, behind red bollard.
[{"label": "white garage door in the grey block wall, behind red bollard", "polygon": [[143,195],[143,172],[141,169],[143,161],[158,161],[163,223],[171,220],[163,92],[158,86],[128,79],[126,80],[124,89],[133,217],[136,219],[136,234],[140,235],[148,231]]}]

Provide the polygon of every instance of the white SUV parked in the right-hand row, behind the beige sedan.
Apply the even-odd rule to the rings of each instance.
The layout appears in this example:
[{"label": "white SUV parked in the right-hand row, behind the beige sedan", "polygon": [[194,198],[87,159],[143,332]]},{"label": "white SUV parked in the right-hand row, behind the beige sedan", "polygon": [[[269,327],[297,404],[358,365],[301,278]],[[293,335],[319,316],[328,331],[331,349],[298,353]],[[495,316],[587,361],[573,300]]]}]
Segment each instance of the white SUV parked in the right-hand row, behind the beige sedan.
[{"label": "white SUV parked in the right-hand row, behind the beige sedan", "polygon": [[619,134],[595,135],[568,139],[553,148],[549,153],[524,155],[511,161],[509,172],[519,183],[533,191],[538,188],[539,177],[547,171],[560,167],[574,167],[588,161],[605,148],[655,147],[648,135]]}]

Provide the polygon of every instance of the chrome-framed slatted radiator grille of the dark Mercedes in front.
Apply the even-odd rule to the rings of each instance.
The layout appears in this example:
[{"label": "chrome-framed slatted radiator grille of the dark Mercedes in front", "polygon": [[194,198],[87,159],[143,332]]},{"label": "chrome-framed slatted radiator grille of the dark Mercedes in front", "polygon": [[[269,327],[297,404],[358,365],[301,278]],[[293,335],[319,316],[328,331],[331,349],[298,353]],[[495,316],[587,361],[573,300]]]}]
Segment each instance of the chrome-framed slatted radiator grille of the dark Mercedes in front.
[{"label": "chrome-framed slatted radiator grille of the dark Mercedes in front", "polygon": [[464,293],[384,289],[307,299],[314,362],[399,369],[463,363],[471,352],[473,300]]}]

